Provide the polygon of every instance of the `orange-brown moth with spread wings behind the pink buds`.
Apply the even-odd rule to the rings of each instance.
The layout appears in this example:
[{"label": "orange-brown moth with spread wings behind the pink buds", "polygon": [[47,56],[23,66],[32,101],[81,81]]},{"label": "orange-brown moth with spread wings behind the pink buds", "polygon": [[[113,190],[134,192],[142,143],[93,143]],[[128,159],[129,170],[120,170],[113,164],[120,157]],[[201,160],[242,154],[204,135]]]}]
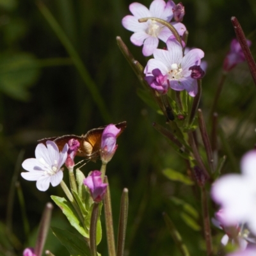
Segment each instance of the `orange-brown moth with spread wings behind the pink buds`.
[{"label": "orange-brown moth with spread wings behind the pink buds", "polygon": [[[47,140],[54,141],[58,146],[59,150],[61,151],[65,145],[68,143],[69,140],[74,139],[79,141],[80,147],[77,150],[76,156],[84,157],[85,159],[90,159],[95,161],[97,157],[100,155],[100,144],[101,144],[101,137],[102,132],[104,131],[105,127],[100,126],[99,128],[92,129],[86,134],[82,134],[81,136],[77,136],[74,134],[71,135],[63,135],[60,137],[51,137],[51,138],[44,138],[42,140],[38,140],[39,143],[46,143]],[[121,129],[117,136],[119,136],[124,129],[126,128],[127,124],[126,121],[115,124],[118,129]]]}]

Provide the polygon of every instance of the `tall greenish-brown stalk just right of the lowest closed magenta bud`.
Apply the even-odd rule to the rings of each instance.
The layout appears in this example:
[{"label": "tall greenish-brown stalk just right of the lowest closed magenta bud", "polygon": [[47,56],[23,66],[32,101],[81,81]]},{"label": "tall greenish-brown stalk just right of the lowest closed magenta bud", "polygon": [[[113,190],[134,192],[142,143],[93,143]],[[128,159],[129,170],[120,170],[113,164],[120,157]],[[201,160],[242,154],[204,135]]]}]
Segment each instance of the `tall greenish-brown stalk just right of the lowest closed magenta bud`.
[{"label": "tall greenish-brown stalk just right of the lowest closed magenta bud", "polygon": [[[108,177],[105,176],[104,183],[108,183]],[[111,207],[111,195],[109,186],[107,188],[106,194],[104,196],[104,213],[106,220],[106,234],[107,234],[107,242],[108,242],[108,254],[109,256],[115,256],[115,234],[113,228],[113,214]]]}]

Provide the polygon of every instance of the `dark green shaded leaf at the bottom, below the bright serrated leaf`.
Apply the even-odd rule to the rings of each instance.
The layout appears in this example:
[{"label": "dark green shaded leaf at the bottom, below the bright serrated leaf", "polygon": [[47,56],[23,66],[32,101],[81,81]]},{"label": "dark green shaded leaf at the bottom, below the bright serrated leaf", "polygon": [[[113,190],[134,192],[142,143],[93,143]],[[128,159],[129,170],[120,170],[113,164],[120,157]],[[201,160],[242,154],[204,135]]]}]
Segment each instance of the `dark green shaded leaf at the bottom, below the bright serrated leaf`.
[{"label": "dark green shaded leaf at the bottom, below the bright serrated leaf", "polygon": [[60,240],[71,256],[90,256],[90,248],[84,239],[67,230],[51,227],[53,234]]}]

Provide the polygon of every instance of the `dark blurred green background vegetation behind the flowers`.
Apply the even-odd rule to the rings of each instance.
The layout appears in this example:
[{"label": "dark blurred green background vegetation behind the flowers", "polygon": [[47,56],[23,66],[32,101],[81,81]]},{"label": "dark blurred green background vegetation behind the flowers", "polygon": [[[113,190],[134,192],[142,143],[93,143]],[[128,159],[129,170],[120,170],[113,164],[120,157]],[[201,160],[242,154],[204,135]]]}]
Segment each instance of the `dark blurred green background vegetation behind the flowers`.
[{"label": "dark blurred green background vegetation behind the flowers", "polygon": [[[164,168],[186,175],[186,164],[152,127],[152,122],[164,125],[164,118],[138,97],[141,85],[116,44],[116,36],[121,36],[136,60],[146,65],[141,48],[129,40],[132,33],[122,28],[121,20],[130,14],[130,3],[0,0],[0,255],[21,255],[22,244],[33,246],[45,203],[51,201],[50,195],[64,196],[60,186],[43,193],[36,189],[35,182],[21,179],[20,164],[23,159],[35,156],[36,141],[57,135],[85,134],[89,129],[124,120],[127,129],[118,138],[118,150],[108,164],[107,175],[115,229],[122,189],[129,189],[126,253],[180,255],[164,224],[162,214],[166,212],[191,255],[205,255],[199,191],[163,175]],[[148,7],[151,2],[140,3]],[[183,23],[189,31],[188,46],[202,49],[208,64],[200,106],[207,115],[220,80],[223,58],[235,36],[230,17],[237,17],[252,40],[255,56],[256,2],[182,3],[186,10]],[[57,23],[45,10],[49,10]],[[93,97],[94,85],[99,94],[94,92]],[[237,170],[241,155],[255,145],[255,95],[246,64],[238,65],[228,74],[218,105],[225,137],[224,142],[220,140],[220,156],[228,156],[225,172]],[[100,161],[88,163],[82,170],[87,175],[97,168]],[[16,190],[12,190],[15,170],[24,193],[29,236],[24,232]],[[17,239],[4,236],[6,211],[12,204],[10,190],[15,195],[9,221],[10,218],[13,221]],[[52,226],[67,226],[57,207]],[[217,246],[220,235],[213,230]],[[55,255],[68,255],[52,234],[45,248]],[[103,237],[99,252],[107,255],[106,248]]]}]

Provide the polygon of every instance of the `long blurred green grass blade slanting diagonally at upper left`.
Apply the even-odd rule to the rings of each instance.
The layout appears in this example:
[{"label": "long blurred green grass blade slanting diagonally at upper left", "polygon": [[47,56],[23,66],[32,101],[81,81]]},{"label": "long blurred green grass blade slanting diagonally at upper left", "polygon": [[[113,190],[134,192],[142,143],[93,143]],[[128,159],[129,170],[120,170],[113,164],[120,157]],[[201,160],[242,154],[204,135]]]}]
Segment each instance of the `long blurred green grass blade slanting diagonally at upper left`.
[{"label": "long blurred green grass blade slanting diagonally at upper left", "polygon": [[98,106],[99,111],[102,115],[102,118],[105,120],[106,123],[109,123],[109,120],[111,120],[111,117],[107,111],[106,104],[104,100],[102,99],[100,92],[97,88],[97,85],[93,81],[92,77],[90,77],[90,74],[86,67],[84,66],[83,61],[79,57],[79,54],[77,54],[76,49],[71,44],[70,40],[68,39],[67,35],[65,35],[65,32],[60,27],[56,19],[53,17],[52,13],[49,11],[49,9],[45,6],[45,4],[38,0],[37,6],[42,15],[45,17],[45,20],[49,23],[53,31],[58,36],[61,44],[65,47],[66,51],[68,52],[70,58],[74,62],[74,65],[76,66],[81,78],[83,79],[84,83],[86,84],[88,90],[92,94],[92,98],[95,102],[95,104]]}]

